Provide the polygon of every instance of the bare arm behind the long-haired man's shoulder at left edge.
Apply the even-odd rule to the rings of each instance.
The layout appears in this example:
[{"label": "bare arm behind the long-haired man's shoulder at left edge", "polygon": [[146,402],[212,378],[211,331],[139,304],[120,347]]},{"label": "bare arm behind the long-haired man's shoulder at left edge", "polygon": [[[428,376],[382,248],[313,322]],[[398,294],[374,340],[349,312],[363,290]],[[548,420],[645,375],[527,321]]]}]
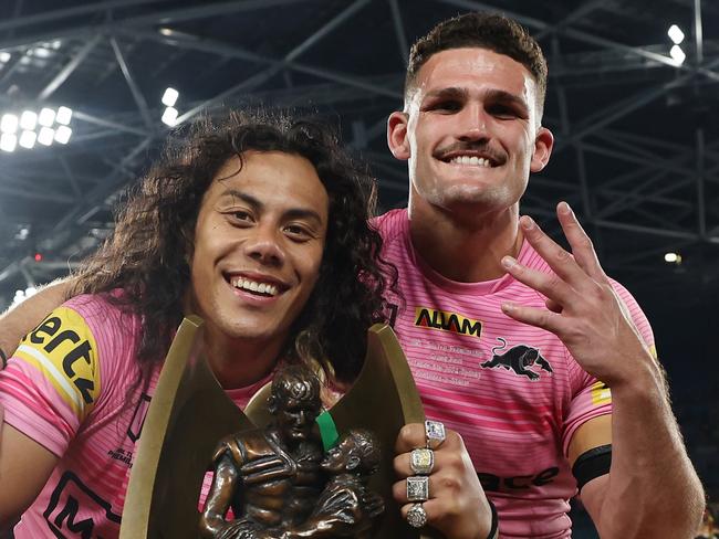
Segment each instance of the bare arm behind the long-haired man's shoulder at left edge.
[{"label": "bare arm behind the long-haired man's shoulder at left edge", "polygon": [[55,307],[67,299],[72,281],[60,279],[41,288],[34,296],[0,315],[0,349],[12,356],[20,340]]}]

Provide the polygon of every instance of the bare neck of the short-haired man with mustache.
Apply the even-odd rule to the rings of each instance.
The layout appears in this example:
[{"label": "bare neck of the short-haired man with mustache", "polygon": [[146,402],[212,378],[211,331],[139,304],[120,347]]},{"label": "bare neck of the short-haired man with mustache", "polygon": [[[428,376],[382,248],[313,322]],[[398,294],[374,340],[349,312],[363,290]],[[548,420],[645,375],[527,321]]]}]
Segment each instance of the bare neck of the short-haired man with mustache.
[{"label": "bare neck of the short-haired man with mustache", "polygon": [[522,245],[519,203],[499,210],[476,205],[447,210],[413,192],[409,232],[419,256],[444,277],[460,283],[502,277],[507,273],[502,257],[517,257]]}]

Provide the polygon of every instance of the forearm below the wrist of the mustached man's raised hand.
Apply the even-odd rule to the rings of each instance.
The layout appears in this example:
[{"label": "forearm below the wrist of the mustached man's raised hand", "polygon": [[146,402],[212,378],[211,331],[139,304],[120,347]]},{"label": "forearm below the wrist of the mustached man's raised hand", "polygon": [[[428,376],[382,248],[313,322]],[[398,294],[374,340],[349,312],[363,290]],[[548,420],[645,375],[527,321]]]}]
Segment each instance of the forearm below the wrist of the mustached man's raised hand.
[{"label": "forearm below the wrist of the mustached man's raised hand", "polygon": [[602,539],[692,538],[701,484],[671,412],[664,376],[650,359],[612,387],[612,466],[595,519]]}]

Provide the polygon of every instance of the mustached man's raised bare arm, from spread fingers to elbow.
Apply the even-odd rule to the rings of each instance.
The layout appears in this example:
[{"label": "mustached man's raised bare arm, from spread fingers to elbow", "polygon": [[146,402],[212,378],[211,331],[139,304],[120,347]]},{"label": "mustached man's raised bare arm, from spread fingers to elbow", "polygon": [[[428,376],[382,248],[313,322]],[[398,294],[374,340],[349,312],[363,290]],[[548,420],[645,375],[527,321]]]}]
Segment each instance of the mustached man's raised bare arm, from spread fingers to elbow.
[{"label": "mustached man's raised bare arm, from spread fingers to elbow", "polygon": [[612,466],[584,486],[582,499],[603,539],[691,538],[704,493],[671,413],[661,368],[574,213],[560,204],[558,218],[572,254],[530,219],[520,221],[524,236],[555,275],[510,257],[502,261],[515,278],[549,298],[548,309],[502,308],[519,321],[555,334],[585,371],[612,389]]}]

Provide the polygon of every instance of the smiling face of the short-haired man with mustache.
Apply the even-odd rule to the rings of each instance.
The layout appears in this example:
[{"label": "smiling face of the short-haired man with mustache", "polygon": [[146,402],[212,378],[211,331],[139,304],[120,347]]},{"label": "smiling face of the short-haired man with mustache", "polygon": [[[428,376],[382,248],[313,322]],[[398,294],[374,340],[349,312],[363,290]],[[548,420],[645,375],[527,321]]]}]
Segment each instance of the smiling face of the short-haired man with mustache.
[{"label": "smiling face of the short-haired man with mustache", "polygon": [[540,127],[536,84],[519,62],[487,49],[434,54],[417,73],[388,142],[409,161],[410,208],[428,203],[502,210],[546,165],[552,135]]}]

